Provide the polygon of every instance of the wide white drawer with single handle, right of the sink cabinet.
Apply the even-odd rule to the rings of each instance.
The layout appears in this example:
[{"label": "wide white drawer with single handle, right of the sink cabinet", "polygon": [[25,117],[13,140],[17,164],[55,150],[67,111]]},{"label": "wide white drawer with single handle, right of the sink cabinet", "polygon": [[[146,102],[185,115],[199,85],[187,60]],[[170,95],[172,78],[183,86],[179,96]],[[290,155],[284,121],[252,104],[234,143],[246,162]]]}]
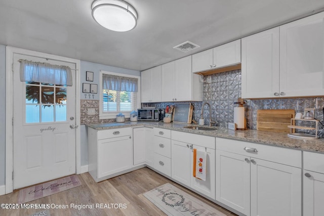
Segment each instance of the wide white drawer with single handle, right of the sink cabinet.
[{"label": "wide white drawer with single handle, right of the sink cabinet", "polygon": [[[302,154],[300,150],[223,138],[216,138],[216,149],[299,168],[302,167]],[[255,149],[256,152],[254,152]]]}]

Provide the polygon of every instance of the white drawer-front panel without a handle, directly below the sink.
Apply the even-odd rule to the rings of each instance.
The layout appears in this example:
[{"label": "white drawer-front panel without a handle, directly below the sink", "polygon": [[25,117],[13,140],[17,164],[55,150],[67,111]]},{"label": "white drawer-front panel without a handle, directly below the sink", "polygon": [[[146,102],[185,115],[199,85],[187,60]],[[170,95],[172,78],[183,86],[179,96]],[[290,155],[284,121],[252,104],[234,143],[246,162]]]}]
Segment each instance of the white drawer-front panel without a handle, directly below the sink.
[{"label": "white drawer-front panel without a handle, directly below the sink", "polygon": [[215,149],[215,137],[172,131],[172,140]]}]

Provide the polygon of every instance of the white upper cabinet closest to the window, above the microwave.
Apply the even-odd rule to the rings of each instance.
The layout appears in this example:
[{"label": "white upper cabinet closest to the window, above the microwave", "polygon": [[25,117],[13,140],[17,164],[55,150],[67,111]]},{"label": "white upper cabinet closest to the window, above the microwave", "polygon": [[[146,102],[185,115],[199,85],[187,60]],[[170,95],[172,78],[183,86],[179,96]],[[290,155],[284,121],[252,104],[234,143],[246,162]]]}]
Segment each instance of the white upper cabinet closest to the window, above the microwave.
[{"label": "white upper cabinet closest to the window, above the microwave", "polygon": [[141,102],[161,101],[161,66],[141,72]]}]

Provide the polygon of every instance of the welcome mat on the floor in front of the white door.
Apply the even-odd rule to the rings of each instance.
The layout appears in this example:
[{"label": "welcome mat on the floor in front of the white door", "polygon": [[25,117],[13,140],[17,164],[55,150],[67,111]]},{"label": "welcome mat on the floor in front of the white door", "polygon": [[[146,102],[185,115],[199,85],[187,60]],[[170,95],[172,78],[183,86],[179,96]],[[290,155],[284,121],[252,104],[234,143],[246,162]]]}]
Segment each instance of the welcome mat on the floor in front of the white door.
[{"label": "welcome mat on the floor in front of the white door", "polygon": [[42,197],[50,196],[71,188],[82,185],[76,175],[54,180],[19,191],[18,203],[25,203]]}]

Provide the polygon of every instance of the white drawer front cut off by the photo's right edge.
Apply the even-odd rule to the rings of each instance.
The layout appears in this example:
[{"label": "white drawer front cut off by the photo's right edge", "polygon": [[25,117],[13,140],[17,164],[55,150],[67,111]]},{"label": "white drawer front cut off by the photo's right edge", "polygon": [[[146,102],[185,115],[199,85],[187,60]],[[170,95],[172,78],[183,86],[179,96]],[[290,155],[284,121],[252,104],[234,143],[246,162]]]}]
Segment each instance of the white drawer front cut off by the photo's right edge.
[{"label": "white drawer front cut off by the photo's right edge", "polygon": [[303,152],[304,169],[324,174],[324,154]]}]

